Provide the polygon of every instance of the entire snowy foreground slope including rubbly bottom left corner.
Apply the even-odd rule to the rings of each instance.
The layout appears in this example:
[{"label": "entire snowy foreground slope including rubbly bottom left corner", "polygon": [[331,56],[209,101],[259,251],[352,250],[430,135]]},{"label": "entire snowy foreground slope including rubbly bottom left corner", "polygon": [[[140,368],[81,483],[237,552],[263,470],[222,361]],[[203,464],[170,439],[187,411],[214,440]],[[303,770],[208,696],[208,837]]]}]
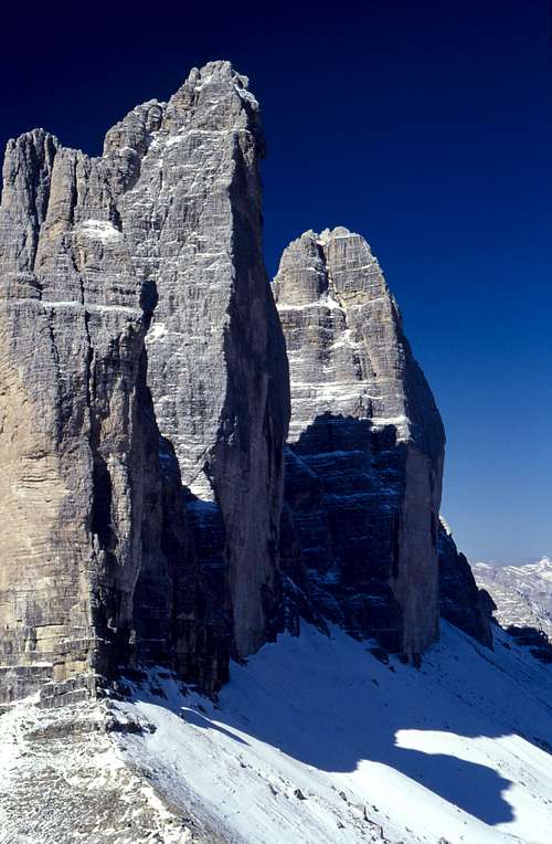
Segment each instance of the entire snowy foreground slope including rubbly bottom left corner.
[{"label": "entire snowy foreground slope including rubbly bottom left corner", "polygon": [[59,745],[44,735],[70,708],[15,706],[0,717],[0,842],[550,844],[551,668],[500,630],[495,653],[442,633],[416,671],[304,625],[233,665],[217,704],[152,673],[108,705],[117,731]]}]

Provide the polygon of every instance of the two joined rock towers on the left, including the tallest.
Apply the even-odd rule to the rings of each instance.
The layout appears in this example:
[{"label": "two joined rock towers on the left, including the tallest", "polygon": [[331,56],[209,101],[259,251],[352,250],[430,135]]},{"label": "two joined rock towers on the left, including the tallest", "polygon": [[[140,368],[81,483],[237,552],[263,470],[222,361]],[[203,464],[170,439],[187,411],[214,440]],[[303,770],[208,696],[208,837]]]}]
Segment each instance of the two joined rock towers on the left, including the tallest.
[{"label": "two joined rock towers on the left, including the tallest", "polygon": [[288,397],[262,152],[227,62],[134,109],[102,158],[41,129],[8,145],[3,698],[168,654],[214,688],[269,634]]}]

